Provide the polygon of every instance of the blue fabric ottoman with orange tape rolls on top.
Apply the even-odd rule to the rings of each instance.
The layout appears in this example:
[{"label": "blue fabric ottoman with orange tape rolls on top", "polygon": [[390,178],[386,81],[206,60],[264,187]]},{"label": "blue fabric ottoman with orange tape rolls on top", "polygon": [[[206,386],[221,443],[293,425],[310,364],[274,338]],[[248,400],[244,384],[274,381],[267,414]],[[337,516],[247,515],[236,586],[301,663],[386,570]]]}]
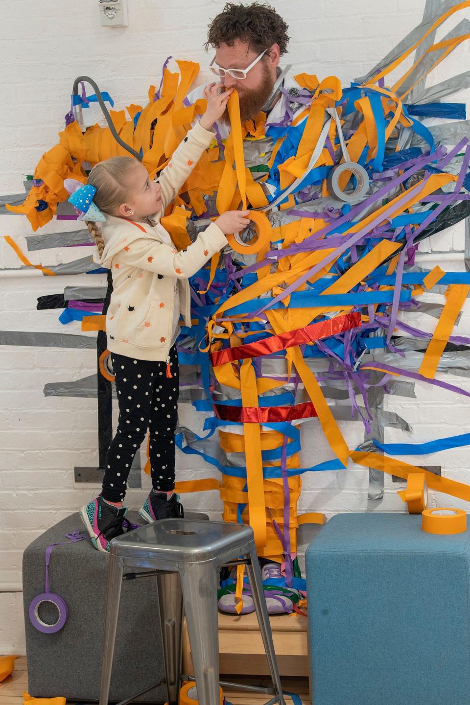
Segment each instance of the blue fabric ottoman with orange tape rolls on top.
[{"label": "blue fabric ottoman with orange tape rolls on top", "polygon": [[340,514],[305,562],[312,705],[470,701],[470,529]]}]

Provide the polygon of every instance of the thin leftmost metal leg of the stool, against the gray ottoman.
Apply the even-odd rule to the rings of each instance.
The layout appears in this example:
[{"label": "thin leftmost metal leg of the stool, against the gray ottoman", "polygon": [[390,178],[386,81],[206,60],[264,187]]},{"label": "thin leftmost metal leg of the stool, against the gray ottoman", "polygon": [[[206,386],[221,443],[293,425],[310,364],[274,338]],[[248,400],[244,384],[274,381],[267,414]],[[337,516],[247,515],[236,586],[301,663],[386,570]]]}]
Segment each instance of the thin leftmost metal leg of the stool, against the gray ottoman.
[{"label": "thin leftmost metal leg of the stool, against the gray ottoman", "polygon": [[118,627],[120,586],[123,581],[123,563],[118,556],[109,554],[108,589],[106,591],[106,616],[104,618],[103,655],[101,657],[101,684],[99,705],[108,705],[111,670],[113,668],[114,642]]}]

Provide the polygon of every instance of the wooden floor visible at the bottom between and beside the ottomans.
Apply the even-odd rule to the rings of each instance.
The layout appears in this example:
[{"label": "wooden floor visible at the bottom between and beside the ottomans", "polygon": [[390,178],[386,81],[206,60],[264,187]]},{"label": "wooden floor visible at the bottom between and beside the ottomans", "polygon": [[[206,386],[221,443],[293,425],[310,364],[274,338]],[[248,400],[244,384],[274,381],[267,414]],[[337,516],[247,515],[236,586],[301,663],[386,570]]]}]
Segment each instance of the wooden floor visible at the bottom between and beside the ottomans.
[{"label": "wooden floor visible at the bottom between and beside the ottomans", "polygon": [[[246,682],[250,685],[269,685],[268,679],[254,678],[253,676],[245,679],[228,676],[226,680],[235,682],[240,680],[240,682]],[[297,693],[300,696],[302,705],[310,705],[309,681],[307,678],[283,678],[283,687],[289,692]],[[27,692],[26,658],[25,656],[20,656],[15,661],[13,673],[4,682],[0,683],[0,705],[23,705],[24,691]],[[261,705],[269,700],[267,695],[230,689],[225,690],[225,697],[233,705]],[[292,699],[287,695],[285,696],[285,703],[286,705],[292,705]]]}]

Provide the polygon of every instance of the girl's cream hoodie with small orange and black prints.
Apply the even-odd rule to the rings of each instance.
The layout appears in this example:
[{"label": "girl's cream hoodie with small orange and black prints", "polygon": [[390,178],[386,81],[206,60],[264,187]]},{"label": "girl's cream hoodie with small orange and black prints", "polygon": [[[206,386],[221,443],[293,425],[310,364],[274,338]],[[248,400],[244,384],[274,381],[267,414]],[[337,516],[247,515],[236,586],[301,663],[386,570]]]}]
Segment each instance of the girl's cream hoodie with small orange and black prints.
[{"label": "girl's cream hoodie with small orange and black prints", "polygon": [[[173,336],[175,300],[186,326],[191,325],[190,276],[227,244],[215,223],[199,233],[186,250],[178,252],[160,218],[199,161],[214,133],[197,123],[161,171],[162,206],[149,216],[153,226],[106,215],[101,232],[104,251],[94,262],[111,269],[113,293],[106,314],[111,353],[135,360],[168,361]],[[177,296],[178,294],[178,296]]]}]

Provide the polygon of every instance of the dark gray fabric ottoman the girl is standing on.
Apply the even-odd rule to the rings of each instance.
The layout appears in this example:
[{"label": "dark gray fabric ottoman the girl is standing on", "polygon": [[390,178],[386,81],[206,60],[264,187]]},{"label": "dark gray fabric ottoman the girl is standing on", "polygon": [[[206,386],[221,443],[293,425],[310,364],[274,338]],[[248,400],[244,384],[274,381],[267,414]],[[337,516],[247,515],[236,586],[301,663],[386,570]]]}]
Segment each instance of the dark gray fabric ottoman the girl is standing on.
[{"label": "dark gray fabric ottoman the girl is standing on", "polygon": [[[143,523],[137,512],[128,517],[135,524]],[[187,517],[207,518],[194,513]],[[68,619],[60,631],[45,634],[29,617],[31,601],[44,592],[47,546],[67,541],[66,534],[74,529],[87,535],[78,513],[42,534],[23,555],[28,692],[33,697],[93,701],[99,700],[107,553],[96,551],[86,540],[55,546],[49,563],[49,591],[66,601]],[[164,675],[156,578],[123,581],[119,613],[110,701],[132,697]],[[38,615],[44,623],[57,620],[56,608],[49,603],[39,606]],[[151,689],[140,701],[164,703],[166,688]]]}]

